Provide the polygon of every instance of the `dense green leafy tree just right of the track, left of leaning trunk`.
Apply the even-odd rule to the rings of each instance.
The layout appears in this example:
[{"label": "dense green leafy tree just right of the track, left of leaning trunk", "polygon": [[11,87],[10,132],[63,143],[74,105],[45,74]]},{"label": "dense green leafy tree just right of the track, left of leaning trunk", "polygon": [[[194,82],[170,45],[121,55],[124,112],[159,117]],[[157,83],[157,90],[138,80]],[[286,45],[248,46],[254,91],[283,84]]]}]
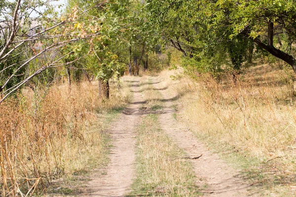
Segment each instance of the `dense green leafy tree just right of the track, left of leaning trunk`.
[{"label": "dense green leafy tree just right of the track, left of leaning trunk", "polygon": [[[247,50],[249,39],[233,36],[227,21],[215,22],[213,2],[194,0],[148,0],[150,19],[158,24],[165,43],[181,51],[187,59],[185,67],[195,67],[198,72],[220,72],[233,70],[234,76],[240,68]],[[227,9],[222,12],[227,18]],[[235,49],[235,50],[234,50]],[[227,54],[225,54],[227,52]],[[228,55],[229,63],[225,59]],[[217,60],[220,58],[220,60]],[[192,63],[192,64],[191,64]],[[222,65],[229,65],[223,66]],[[195,66],[194,66],[195,65]],[[235,77],[234,77],[235,78]]]}]

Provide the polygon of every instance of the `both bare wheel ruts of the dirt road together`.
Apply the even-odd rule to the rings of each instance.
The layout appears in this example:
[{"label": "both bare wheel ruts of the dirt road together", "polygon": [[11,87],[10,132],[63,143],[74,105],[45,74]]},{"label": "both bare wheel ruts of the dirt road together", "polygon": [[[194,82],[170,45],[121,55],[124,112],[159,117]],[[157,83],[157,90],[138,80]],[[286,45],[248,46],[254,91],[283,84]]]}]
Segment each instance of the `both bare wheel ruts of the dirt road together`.
[{"label": "both bare wheel ruts of the dirt road together", "polygon": [[[184,123],[173,117],[173,106],[178,105],[178,97],[160,78],[150,77],[155,89],[162,95],[163,107],[167,113],[159,113],[161,129],[171,137],[188,157],[202,155],[191,160],[196,176],[196,184],[203,196],[210,197],[246,197],[248,185],[237,177],[238,173],[225,164],[218,155],[207,148],[186,129]],[[146,103],[141,91],[140,79],[128,81],[131,84],[134,100],[125,108],[120,118],[114,123],[111,134],[112,147],[110,164],[101,174],[94,174],[85,196],[121,197],[131,191],[135,177],[135,127],[140,122],[143,111],[139,109]],[[180,107],[180,106],[179,106]],[[147,113],[147,111],[146,111]],[[206,186],[206,187],[205,187]]]}]

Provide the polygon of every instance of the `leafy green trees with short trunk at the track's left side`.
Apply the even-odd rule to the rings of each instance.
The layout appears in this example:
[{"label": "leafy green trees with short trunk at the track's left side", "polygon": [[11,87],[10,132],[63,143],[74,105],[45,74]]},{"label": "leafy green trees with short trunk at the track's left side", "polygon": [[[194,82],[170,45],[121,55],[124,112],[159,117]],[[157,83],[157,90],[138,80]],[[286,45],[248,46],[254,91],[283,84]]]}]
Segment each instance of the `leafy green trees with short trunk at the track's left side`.
[{"label": "leafy green trees with short trunk at the track's left side", "polygon": [[[93,27],[99,22],[100,34],[78,46],[83,67],[99,80],[101,93],[109,98],[109,81],[127,68],[129,74],[139,74],[140,63],[154,47],[157,33],[146,18],[145,4],[138,0],[97,1],[69,0],[67,13],[81,10],[81,28]],[[73,46],[77,46],[73,44]],[[72,46],[72,47],[73,47]],[[75,53],[76,54],[76,53]]]}]

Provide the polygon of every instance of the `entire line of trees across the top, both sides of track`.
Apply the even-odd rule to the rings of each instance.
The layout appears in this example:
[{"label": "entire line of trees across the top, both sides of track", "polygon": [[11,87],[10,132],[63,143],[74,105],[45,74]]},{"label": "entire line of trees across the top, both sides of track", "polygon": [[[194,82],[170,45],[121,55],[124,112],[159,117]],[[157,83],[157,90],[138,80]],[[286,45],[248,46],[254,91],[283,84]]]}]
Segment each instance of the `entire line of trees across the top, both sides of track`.
[{"label": "entire line of trees across the top, both sides of track", "polygon": [[235,81],[254,54],[296,72],[294,0],[68,0],[61,15],[47,0],[5,0],[0,10],[1,101],[64,76],[98,79],[108,98],[110,79],[147,69],[160,46],[216,78]]}]

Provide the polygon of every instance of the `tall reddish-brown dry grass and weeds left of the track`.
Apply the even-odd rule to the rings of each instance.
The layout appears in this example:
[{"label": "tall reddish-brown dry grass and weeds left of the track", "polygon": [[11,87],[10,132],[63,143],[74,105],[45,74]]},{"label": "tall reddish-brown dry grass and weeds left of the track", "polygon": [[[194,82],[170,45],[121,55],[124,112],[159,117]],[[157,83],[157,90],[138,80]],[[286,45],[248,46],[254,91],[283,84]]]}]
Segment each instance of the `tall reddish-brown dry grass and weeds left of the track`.
[{"label": "tall reddish-brown dry grass and weeds left of the track", "polygon": [[97,83],[54,85],[34,93],[26,89],[1,103],[2,196],[32,194],[65,174],[102,163],[101,131],[114,115],[107,112],[130,99],[127,88],[119,93],[113,85],[111,99],[100,100]]}]

